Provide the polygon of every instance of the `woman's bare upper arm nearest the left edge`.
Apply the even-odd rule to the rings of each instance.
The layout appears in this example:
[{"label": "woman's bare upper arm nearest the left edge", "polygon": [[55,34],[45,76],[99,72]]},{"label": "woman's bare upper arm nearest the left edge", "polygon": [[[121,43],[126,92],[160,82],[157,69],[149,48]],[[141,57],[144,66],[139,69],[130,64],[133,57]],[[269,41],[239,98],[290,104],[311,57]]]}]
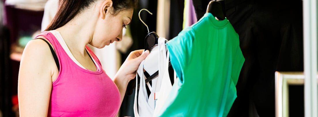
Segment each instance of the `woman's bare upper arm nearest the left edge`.
[{"label": "woman's bare upper arm nearest the left edge", "polygon": [[43,40],[31,40],[26,45],[18,77],[20,116],[47,116],[53,65],[52,53]]}]

